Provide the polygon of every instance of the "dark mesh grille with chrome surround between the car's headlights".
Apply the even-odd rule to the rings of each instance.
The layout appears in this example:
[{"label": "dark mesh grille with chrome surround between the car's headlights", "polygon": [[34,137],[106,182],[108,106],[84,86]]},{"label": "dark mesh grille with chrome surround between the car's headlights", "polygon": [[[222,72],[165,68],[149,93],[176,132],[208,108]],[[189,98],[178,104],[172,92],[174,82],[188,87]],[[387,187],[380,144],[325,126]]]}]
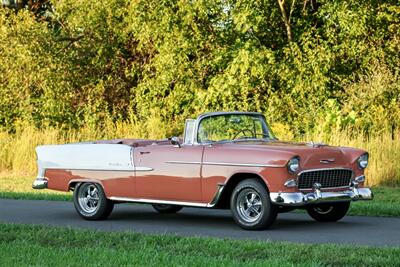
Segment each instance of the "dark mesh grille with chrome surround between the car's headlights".
[{"label": "dark mesh grille with chrome surround between the car's headlights", "polygon": [[305,171],[298,177],[299,189],[311,189],[314,183],[320,183],[321,188],[349,186],[353,171],[348,169],[322,169]]}]

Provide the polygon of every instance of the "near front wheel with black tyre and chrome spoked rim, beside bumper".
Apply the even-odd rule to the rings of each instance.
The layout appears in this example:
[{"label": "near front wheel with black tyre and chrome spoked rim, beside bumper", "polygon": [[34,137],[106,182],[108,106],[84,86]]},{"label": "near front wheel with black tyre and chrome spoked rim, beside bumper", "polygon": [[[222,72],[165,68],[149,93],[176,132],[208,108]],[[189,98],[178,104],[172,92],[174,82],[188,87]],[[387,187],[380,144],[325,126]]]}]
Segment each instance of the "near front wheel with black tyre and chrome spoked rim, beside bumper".
[{"label": "near front wheel with black tyre and chrome spoked rim, beside bumper", "polygon": [[236,223],[246,230],[268,228],[277,216],[268,191],[256,179],[240,182],[232,192],[230,205]]}]

